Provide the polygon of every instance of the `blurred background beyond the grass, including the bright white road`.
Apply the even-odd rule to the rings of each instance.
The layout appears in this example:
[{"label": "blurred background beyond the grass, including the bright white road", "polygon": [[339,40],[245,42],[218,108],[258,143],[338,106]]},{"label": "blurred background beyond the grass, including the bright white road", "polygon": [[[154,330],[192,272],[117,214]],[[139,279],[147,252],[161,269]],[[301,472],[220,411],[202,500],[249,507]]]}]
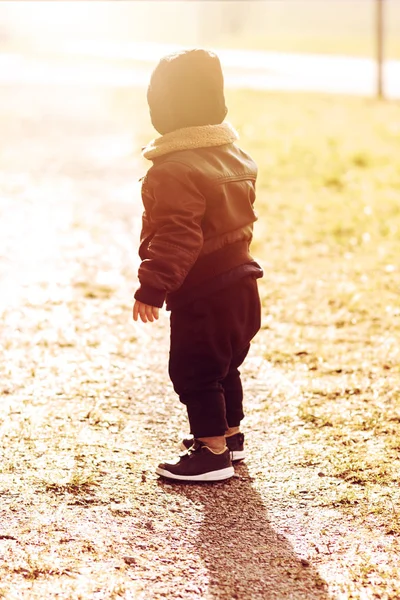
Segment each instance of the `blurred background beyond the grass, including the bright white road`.
[{"label": "blurred background beyond the grass, including the bright white road", "polygon": [[[143,84],[145,67],[157,57],[200,45],[222,51],[230,86],[372,94],[379,5],[388,61],[385,92],[399,96],[397,0],[3,2],[0,47],[29,53],[31,61],[28,69],[26,61],[3,56],[0,78]],[[62,57],[63,64],[51,69],[44,55]],[[79,65],[71,62],[78,58]],[[92,62],[89,69],[90,58],[102,63],[94,68]],[[110,61],[114,70],[106,69]],[[130,72],[123,69],[129,61]]]}]

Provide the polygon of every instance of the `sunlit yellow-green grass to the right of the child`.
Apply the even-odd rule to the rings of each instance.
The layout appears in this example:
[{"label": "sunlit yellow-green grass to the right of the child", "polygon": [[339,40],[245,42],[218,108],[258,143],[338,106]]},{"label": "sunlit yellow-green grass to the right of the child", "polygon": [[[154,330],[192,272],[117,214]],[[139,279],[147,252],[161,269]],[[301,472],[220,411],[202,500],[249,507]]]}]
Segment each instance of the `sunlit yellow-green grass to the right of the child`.
[{"label": "sunlit yellow-green grass to the right of the child", "polygon": [[298,386],[302,426],[288,424],[282,404],[275,419],[297,442],[294,462],[328,482],[314,506],[357,515],[366,539],[377,530],[393,539],[385,564],[357,555],[344,596],[396,598],[399,107],[250,94],[250,121],[244,98],[232,100],[242,144],[260,165],[254,252],[266,272],[265,358]]}]

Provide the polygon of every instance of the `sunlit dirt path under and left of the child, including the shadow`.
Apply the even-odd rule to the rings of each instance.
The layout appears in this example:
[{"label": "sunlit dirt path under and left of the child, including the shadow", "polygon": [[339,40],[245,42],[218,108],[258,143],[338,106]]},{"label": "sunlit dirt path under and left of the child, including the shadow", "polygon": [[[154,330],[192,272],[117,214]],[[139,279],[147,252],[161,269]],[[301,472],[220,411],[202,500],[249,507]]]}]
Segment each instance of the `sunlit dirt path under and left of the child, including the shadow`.
[{"label": "sunlit dirt path under and left of the child, including the shadow", "polygon": [[217,485],[155,476],[186,420],[167,313],[131,320],[146,166],[113,101],[1,91],[0,597],[400,598],[398,531],[318,502],[350,484],[299,460],[312,419],[300,376],[266,359],[267,313],[243,369],[246,464]]}]

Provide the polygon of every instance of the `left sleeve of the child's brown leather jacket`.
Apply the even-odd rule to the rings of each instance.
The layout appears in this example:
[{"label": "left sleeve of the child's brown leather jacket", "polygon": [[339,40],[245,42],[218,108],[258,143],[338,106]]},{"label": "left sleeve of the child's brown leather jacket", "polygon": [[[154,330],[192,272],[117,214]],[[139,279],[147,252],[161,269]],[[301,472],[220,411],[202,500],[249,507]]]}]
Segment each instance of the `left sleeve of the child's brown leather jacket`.
[{"label": "left sleeve of the child's brown leather jacket", "polygon": [[193,171],[183,163],[166,161],[153,167],[147,186],[155,233],[139,267],[135,298],[161,307],[166,294],[182,285],[202,249],[205,198]]}]

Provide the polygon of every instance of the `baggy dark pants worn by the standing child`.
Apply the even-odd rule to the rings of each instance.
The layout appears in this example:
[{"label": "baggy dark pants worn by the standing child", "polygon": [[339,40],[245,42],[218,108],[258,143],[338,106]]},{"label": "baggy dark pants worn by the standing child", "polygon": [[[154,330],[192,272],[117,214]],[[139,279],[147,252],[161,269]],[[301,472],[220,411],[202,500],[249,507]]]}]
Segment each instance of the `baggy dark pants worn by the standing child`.
[{"label": "baggy dark pants worn by the standing child", "polygon": [[260,315],[253,277],[171,311],[169,374],[194,437],[224,435],[240,424],[238,367],[260,329]]}]

